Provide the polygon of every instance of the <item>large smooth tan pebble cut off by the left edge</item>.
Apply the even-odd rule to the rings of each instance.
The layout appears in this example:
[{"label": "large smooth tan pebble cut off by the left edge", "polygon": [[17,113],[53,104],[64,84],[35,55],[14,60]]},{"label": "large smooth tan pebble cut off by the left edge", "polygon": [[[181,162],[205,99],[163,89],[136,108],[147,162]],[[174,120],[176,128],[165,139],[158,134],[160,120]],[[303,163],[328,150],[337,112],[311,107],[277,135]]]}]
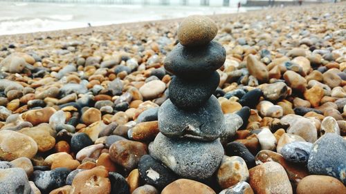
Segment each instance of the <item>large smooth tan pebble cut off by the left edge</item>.
[{"label": "large smooth tan pebble cut off by the left edge", "polygon": [[33,138],[12,130],[0,130],[0,159],[12,161],[19,157],[33,158],[37,144]]}]

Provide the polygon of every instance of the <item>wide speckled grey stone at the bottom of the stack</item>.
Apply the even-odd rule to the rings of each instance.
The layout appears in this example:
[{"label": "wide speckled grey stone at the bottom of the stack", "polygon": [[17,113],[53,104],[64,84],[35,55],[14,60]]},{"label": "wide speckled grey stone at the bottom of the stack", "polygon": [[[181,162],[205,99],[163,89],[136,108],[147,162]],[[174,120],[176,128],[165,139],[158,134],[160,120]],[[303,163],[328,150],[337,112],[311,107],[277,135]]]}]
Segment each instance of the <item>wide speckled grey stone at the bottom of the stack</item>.
[{"label": "wide speckled grey stone at the bottom of the stack", "polygon": [[149,144],[149,153],[174,173],[192,180],[211,177],[222,158],[224,148],[220,140],[200,142],[190,138],[174,139],[158,133]]}]

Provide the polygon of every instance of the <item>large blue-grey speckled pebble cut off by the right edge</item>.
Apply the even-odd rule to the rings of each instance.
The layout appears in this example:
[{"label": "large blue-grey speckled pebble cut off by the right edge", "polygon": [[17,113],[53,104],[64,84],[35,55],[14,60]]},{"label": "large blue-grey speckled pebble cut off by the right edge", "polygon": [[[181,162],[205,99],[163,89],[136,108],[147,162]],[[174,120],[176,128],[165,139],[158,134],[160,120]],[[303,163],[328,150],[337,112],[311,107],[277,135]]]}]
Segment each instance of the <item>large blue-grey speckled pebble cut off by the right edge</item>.
[{"label": "large blue-grey speckled pebble cut off by the right edge", "polygon": [[313,175],[329,175],[346,183],[346,142],[335,133],[326,133],[315,143],[307,163]]}]

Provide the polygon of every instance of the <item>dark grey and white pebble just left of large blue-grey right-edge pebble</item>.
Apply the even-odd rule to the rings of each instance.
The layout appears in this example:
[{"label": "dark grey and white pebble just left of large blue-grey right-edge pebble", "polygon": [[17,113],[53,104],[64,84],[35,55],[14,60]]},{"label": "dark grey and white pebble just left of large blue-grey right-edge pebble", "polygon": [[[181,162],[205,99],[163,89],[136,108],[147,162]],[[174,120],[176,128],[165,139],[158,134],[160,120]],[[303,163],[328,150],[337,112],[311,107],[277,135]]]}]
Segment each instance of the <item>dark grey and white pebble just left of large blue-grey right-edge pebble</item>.
[{"label": "dark grey and white pebble just left of large blue-grey right-edge pebble", "polygon": [[312,144],[309,142],[291,142],[281,149],[281,155],[289,162],[307,164]]}]

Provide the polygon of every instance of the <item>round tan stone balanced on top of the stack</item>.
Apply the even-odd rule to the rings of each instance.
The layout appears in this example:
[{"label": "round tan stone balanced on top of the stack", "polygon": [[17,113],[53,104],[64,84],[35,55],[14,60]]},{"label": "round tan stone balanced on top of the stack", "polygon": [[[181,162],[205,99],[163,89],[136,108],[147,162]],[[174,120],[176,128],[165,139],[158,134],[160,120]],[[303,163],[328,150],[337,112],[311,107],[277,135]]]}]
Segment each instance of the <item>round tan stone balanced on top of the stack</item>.
[{"label": "round tan stone balanced on top of the stack", "polygon": [[192,15],[184,19],[178,29],[178,39],[183,46],[206,45],[217,35],[217,24],[209,17]]}]

